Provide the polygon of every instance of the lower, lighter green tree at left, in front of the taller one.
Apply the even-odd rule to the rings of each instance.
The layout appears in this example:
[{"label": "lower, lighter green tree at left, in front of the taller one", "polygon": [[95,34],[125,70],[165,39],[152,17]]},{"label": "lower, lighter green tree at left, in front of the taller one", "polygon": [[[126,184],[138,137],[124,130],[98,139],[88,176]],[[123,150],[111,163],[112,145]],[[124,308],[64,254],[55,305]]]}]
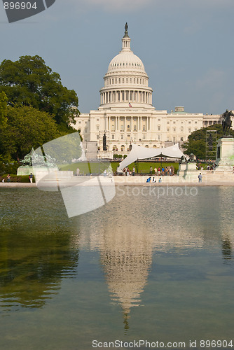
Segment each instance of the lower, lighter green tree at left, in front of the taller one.
[{"label": "lower, lighter green tree at left, in front of the taller one", "polygon": [[6,128],[0,129],[0,154],[18,162],[32,150],[64,135],[50,114],[32,106],[8,106]]}]

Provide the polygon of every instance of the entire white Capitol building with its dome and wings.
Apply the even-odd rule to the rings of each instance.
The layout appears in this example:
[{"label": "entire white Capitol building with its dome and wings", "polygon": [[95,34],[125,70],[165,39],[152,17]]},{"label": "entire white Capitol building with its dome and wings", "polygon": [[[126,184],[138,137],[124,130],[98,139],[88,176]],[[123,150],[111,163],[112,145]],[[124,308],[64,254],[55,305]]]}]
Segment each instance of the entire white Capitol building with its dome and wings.
[{"label": "entire white Capitol building with its dome and wings", "polygon": [[114,154],[128,154],[132,143],[149,148],[182,144],[191,132],[221,123],[220,115],[186,113],[184,106],[170,113],[156,110],[149,76],[130,42],[126,23],[122,50],[113,57],[104,76],[99,109],[76,118],[74,127],[81,130],[88,153],[113,158]]}]

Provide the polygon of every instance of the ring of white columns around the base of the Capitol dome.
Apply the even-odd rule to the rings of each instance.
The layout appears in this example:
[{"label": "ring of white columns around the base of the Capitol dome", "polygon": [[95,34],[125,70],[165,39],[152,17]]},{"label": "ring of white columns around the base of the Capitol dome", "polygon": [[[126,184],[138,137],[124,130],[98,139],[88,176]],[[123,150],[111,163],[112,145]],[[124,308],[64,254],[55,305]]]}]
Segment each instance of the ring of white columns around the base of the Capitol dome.
[{"label": "ring of white columns around the base of the Capitol dome", "polygon": [[101,92],[101,104],[118,102],[152,104],[152,93],[139,90],[111,90]]}]

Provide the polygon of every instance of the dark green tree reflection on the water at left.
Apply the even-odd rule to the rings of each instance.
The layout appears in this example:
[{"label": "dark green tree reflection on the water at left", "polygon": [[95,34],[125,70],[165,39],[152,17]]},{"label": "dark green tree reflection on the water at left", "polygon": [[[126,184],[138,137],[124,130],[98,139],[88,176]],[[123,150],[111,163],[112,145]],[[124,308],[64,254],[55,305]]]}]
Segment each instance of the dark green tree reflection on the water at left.
[{"label": "dark green tree reflection on the water at left", "polygon": [[[1,232],[0,232],[1,233]],[[17,235],[1,237],[1,306],[42,307],[57,290],[63,278],[76,274],[78,251],[69,248],[69,235]]]}]

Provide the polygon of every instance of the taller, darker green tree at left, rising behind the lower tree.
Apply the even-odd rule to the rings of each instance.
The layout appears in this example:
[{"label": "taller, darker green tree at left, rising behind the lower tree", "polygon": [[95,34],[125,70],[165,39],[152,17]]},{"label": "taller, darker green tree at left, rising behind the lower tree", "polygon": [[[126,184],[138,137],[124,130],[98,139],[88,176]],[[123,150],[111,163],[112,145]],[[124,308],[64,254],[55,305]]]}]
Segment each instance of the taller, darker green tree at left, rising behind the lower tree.
[{"label": "taller, darker green tree at left, rising behind the lower tree", "polygon": [[18,61],[5,59],[0,64],[0,92],[11,106],[33,106],[54,116],[60,130],[74,132],[70,123],[79,115],[78,97],[61,83],[58,73],[36,56],[21,56]]}]

